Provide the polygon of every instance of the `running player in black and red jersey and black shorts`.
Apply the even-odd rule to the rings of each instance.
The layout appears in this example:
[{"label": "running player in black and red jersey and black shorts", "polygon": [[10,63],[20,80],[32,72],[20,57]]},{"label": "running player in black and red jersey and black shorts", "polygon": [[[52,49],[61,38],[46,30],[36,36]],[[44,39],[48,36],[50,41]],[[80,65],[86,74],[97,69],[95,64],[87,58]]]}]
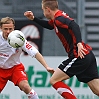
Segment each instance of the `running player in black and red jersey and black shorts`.
[{"label": "running player in black and red jersey and black shorts", "polygon": [[62,82],[75,75],[80,82],[87,83],[92,92],[99,96],[96,59],[92,48],[82,41],[79,25],[65,12],[59,10],[57,0],[42,0],[42,10],[48,21],[36,18],[31,11],[26,11],[24,15],[44,28],[55,29],[56,35],[68,53],[68,59],[60,63],[50,83],[65,99],[77,99],[70,87]]}]

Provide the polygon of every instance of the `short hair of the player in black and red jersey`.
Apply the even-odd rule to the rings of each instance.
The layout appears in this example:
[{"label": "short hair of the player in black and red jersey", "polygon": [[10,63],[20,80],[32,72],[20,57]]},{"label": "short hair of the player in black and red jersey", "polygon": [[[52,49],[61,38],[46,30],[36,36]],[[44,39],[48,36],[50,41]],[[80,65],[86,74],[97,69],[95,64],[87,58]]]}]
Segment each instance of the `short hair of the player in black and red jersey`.
[{"label": "short hair of the player in black and red jersey", "polygon": [[57,0],[42,0],[42,5],[44,8],[49,7],[51,10],[58,9],[58,1]]}]

